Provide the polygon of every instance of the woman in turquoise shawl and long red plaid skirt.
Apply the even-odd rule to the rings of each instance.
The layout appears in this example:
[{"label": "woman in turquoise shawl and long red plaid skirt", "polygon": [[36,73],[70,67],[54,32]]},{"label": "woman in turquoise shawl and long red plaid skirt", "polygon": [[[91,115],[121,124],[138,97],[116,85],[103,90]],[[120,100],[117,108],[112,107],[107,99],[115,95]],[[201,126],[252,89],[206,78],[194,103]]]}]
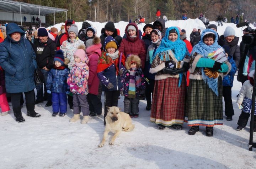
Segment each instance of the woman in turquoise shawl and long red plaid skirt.
[{"label": "woman in turquoise shawl and long red plaid skirt", "polygon": [[160,130],[166,126],[182,129],[185,113],[185,74],[189,60],[186,44],[180,40],[178,28],[168,28],[156,49],[149,70],[152,74],[156,73],[150,121],[158,124]]}]

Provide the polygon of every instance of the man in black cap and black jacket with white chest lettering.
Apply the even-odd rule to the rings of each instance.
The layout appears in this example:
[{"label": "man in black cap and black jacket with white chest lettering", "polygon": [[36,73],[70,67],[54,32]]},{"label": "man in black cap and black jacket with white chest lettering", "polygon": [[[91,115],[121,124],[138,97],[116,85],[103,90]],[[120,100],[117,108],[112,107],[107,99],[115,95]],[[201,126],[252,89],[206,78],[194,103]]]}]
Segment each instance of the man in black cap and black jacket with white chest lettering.
[{"label": "man in black cap and black jacket with white chest lettering", "polygon": [[44,75],[44,97],[43,84],[36,85],[37,99],[35,104],[42,103],[47,100],[46,107],[52,105],[52,95],[46,92],[46,82],[50,69],[53,68],[53,58],[56,52],[56,44],[48,37],[48,32],[45,28],[39,28],[38,39],[34,39],[34,51],[36,52],[37,65]]}]

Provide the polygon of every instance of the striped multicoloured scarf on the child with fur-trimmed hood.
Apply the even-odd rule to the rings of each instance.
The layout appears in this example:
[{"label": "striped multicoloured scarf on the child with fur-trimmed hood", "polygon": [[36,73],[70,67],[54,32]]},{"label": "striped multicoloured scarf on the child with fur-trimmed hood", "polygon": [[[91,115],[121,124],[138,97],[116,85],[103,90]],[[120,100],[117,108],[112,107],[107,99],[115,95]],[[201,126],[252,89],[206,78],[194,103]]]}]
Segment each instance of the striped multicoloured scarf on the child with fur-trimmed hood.
[{"label": "striped multicoloured scarf on the child with fur-trimmed hood", "polygon": [[[130,69],[130,80],[129,80],[129,89],[128,89],[128,98],[136,98],[136,87],[141,86],[140,76],[135,76],[137,68]],[[135,85],[136,81],[136,85]]]}]

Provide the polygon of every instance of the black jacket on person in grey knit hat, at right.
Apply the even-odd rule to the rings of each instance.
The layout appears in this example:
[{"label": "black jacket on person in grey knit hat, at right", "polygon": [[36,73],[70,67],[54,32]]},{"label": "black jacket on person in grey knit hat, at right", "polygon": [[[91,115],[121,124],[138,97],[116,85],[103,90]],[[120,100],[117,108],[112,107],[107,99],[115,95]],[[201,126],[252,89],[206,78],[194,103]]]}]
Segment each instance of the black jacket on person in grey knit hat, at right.
[{"label": "black jacket on person in grey knit hat, at right", "polygon": [[229,54],[233,56],[233,59],[235,60],[235,63],[236,63],[236,68],[238,68],[239,62],[240,62],[240,49],[238,46],[238,41],[239,41],[239,37],[236,37],[236,36],[232,42],[227,42],[223,35],[221,35],[220,38],[218,39],[218,44],[220,46],[224,46],[224,45],[230,46]]}]

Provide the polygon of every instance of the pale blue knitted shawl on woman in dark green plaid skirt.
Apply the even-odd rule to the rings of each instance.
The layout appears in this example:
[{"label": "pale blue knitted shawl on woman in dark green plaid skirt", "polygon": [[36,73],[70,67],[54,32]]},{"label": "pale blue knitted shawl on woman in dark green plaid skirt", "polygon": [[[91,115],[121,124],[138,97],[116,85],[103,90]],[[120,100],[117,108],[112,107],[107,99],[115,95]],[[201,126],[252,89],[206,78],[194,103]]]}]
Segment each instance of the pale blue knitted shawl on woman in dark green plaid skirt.
[{"label": "pale blue knitted shawl on woman in dark green plaid skirt", "polygon": [[[204,33],[206,32],[212,32],[215,35],[215,41],[212,45],[207,46],[204,42],[203,42],[203,36]],[[199,43],[197,45],[195,45],[193,47],[193,50],[191,52],[191,56],[193,56],[193,54],[195,52],[197,52],[198,54],[201,54],[203,56],[203,58],[208,58],[208,54],[212,53],[213,51],[216,51],[218,48],[221,48],[221,46],[218,45],[218,35],[217,32],[212,30],[212,29],[205,29],[202,31],[202,35],[201,35],[201,41],[199,41]],[[204,68],[201,69],[202,71],[202,78],[204,80],[205,83],[208,84],[209,88],[212,89],[212,91],[219,96],[218,94],[218,78],[209,78],[209,76],[206,76],[204,74]]]}]

